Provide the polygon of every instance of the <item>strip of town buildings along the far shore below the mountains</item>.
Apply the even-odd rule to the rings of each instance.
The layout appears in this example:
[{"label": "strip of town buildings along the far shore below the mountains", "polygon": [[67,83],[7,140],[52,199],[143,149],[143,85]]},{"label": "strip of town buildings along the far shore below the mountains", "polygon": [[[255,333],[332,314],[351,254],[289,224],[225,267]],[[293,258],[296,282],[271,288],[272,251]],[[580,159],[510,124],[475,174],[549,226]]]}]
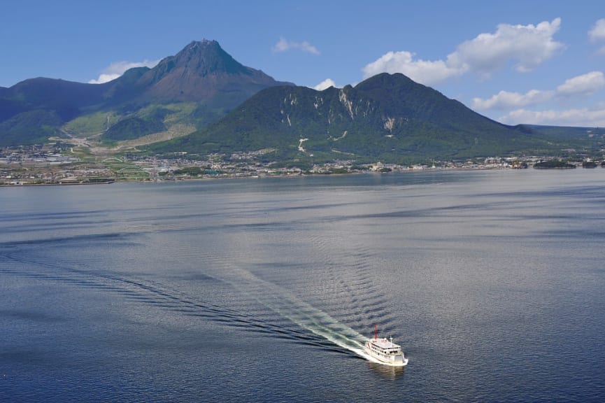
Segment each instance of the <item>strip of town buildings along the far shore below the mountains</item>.
[{"label": "strip of town buildings along the far shore below the mountains", "polygon": [[[423,171],[436,169],[522,169],[532,167],[544,157],[488,157],[464,161],[434,161],[411,166],[399,164],[357,164],[355,160],[336,160],[309,167],[267,161],[270,149],[256,153],[208,155],[191,160],[187,155],[170,159],[124,155],[98,162],[84,162],[65,154],[65,146],[52,143],[0,149],[0,185],[102,183],[113,180],[165,181],[187,178],[291,176],[304,174],[347,174],[351,172]],[[596,163],[576,162],[579,167]],[[603,164],[601,164],[603,166]]]}]

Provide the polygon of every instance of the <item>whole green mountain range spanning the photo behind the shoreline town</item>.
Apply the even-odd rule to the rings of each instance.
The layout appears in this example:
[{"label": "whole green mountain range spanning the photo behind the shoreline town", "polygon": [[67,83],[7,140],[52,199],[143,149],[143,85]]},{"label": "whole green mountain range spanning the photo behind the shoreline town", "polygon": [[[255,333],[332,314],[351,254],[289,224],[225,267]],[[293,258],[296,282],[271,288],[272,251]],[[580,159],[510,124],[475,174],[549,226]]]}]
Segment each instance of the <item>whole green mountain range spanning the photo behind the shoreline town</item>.
[{"label": "whole green mountain range spanning the photo behind the shoreline town", "polygon": [[[281,162],[303,171],[334,160],[586,159],[605,148],[605,129],[501,125],[402,74],[321,92],[278,83],[239,64],[215,41],[190,43],[153,69],[131,69],[110,83],[35,78],[0,93],[0,146],[44,143],[65,133],[101,134],[103,146],[120,147],[143,136],[127,144],[173,138],[144,153],[186,152],[191,159],[239,153],[245,157],[234,160]],[[90,159],[86,146],[73,153]],[[124,176],[147,175],[128,167],[115,171],[122,169]]]}]

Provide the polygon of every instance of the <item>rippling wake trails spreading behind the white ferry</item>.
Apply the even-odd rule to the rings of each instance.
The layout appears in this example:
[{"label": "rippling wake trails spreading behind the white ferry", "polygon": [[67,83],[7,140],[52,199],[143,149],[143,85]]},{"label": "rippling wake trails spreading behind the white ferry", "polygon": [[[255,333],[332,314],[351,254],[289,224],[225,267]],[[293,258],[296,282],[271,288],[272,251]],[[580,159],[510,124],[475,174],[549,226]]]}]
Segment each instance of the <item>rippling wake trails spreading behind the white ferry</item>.
[{"label": "rippling wake trails spreading behind the white ferry", "polygon": [[[376,323],[378,319],[380,323],[385,323],[393,320],[392,316],[385,316],[385,297],[373,286],[368,274],[373,260],[369,250],[357,248],[355,253],[347,254],[346,250],[339,251],[337,245],[331,244],[330,239],[325,237],[312,238],[311,243],[312,248],[318,250],[316,256],[325,260],[324,268],[320,273],[316,273],[323,285],[320,295],[325,296],[326,304],[341,307],[337,311],[345,312],[343,321],[358,322],[362,318],[369,323]],[[210,265],[209,270],[204,270],[204,276],[227,283],[238,290],[240,295],[255,299],[277,313],[279,317],[296,324],[299,329],[288,327],[272,316],[254,315],[254,313],[212,304],[198,296],[192,297],[181,290],[166,287],[162,283],[122,275],[102,274],[51,262],[25,260],[10,254],[3,255],[1,258],[4,262],[13,263],[4,265],[0,269],[4,274],[112,292],[132,302],[150,304],[186,316],[215,320],[239,329],[248,331],[255,329],[276,337],[295,339],[324,348],[329,348],[329,345],[338,346],[366,360],[372,360],[362,350],[367,337],[345,325],[342,319],[338,320],[322,309],[304,302],[294,292],[271,281],[271,278],[260,278],[248,269],[238,267],[237,262],[226,262],[213,253],[208,253],[206,256],[200,256],[199,250],[196,253],[196,259],[204,260]],[[339,262],[339,265],[334,262]],[[212,271],[212,274],[208,271]],[[273,276],[280,276],[280,271],[273,271]],[[292,281],[292,278],[288,281]],[[320,295],[315,297],[320,298]],[[311,332],[315,337],[309,337],[307,332]],[[329,344],[322,343],[322,339]]]}]

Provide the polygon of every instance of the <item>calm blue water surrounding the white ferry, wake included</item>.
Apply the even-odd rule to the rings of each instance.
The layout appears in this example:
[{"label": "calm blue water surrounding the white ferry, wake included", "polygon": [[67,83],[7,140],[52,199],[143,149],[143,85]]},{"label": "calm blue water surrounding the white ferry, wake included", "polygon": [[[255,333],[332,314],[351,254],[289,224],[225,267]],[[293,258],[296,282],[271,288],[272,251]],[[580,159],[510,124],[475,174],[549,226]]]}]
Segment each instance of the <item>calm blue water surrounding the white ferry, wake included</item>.
[{"label": "calm blue water surrounding the white ferry, wake included", "polygon": [[[0,188],[0,402],[605,400],[605,169]],[[374,323],[405,370],[357,355]]]}]

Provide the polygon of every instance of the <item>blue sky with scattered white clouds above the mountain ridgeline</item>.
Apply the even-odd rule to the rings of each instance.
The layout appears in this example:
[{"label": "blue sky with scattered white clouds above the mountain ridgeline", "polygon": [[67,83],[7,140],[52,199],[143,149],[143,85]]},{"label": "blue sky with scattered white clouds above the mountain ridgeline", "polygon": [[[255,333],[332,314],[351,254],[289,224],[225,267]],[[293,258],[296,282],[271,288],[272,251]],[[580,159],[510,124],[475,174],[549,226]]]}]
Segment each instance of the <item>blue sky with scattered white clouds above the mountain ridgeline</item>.
[{"label": "blue sky with scattered white clouds above the mountain ridgeline", "polygon": [[101,83],[202,39],[318,90],[404,73],[507,125],[605,126],[602,1],[4,0],[0,87]]}]

